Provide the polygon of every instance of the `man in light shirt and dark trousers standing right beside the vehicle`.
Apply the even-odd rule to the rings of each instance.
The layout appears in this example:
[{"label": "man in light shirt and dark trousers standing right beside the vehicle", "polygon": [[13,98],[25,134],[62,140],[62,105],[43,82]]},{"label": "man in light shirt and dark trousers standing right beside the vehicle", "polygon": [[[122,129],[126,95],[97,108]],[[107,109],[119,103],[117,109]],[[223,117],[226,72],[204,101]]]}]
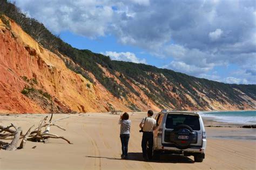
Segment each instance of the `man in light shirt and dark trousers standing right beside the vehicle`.
[{"label": "man in light shirt and dark trousers standing right beside the vehicle", "polygon": [[[147,111],[147,117],[142,119],[139,124],[140,129],[143,130],[142,136],[142,152],[145,161],[152,159],[153,151],[153,130],[157,126],[157,121],[152,117],[153,111]],[[149,150],[147,151],[147,143],[149,143]]]}]

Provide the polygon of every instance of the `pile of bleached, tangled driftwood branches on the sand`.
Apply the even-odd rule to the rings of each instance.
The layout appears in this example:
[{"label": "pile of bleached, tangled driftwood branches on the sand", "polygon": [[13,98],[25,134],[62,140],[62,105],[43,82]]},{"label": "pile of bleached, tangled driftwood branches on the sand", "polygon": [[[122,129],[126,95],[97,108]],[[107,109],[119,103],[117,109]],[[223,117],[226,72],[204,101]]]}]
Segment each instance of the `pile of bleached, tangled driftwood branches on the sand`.
[{"label": "pile of bleached, tangled driftwood branches on the sand", "polygon": [[[33,129],[33,127],[35,126],[33,125],[29,128],[29,130],[25,134],[22,133],[21,127],[17,128],[14,124],[11,124],[10,126],[7,126],[7,127],[0,125],[0,139],[12,140],[11,143],[6,143],[5,141],[0,140],[0,149],[14,151],[16,149],[24,148],[27,140],[45,143],[50,138],[55,138],[55,139],[60,138],[60,139],[66,140],[69,144],[72,144],[68,139],[64,138],[63,136],[58,136],[57,134],[50,133],[51,126],[56,126],[57,128],[65,131],[65,129],[57,125],[56,122],[69,117],[64,117],[64,118],[60,118],[55,121],[52,121],[52,115],[53,114],[51,114],[49,121],[47,121],[48,116],[46,116],[44,119],[42,119],[42,121],[39,122],[39,125],[37,128]],[[42,130],[43,128],[45,130]],[[17,146],[19,139],[22,139],[22,141],[21,141],[21,144]]]}]

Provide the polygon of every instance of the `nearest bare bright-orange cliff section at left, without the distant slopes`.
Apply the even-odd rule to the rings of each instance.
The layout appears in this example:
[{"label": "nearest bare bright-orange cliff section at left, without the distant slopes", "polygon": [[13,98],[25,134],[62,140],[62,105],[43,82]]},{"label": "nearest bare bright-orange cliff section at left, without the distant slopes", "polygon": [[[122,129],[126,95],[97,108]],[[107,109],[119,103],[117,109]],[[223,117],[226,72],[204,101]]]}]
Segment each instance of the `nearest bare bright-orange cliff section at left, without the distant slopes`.
[{"label": "nearest bare bright-orange cliff section at left, without the distant slopes", "polygon": [[[0,20],[1,110],[49,112],[49,98],[35,95],[41,90],[51,95],[53,105],[63,112],[108,111],[110,105],[130,111],[126,101],[113,97],[97,80],[92,84],[66,68],[62,60],[65,56],[44,49],[12,20],[10,25],[8,30]],[[22,94],[24,89],[32,95]]]}]

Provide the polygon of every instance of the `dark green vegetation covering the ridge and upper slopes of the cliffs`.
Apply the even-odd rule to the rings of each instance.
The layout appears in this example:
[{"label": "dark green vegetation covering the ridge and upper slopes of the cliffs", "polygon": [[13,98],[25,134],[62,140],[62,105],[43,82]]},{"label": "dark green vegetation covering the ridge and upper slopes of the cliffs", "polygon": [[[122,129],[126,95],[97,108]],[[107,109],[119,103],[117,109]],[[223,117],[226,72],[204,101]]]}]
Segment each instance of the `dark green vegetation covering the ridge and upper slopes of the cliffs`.
[{"label": "dark green vegetation covering the ridge and upper slopes of the cliffs", "polygon": [[[76,73],[82,74],[86,79],[93,82],[91,77],[84,73],[81,68],[91,72],[96,79],[103,84],[116,97],[124,97],[134,94],[140,97],[129,82],[140,87],[144,93],[151,98],[161,108],[170,107],[172,103],[177,109],[182,109],[183,105],[194,107],[185,96],[189,94],[197,105],[204,108],[208,105],[207,101],[198,93],[204,94],[206,97],[217,100],[223,104],[224,98],[232,104],[240,104],[245,101],[240,96],[238,90],[256,100],[256,86],[255,85],[238,85],[225,84],[206,79],[199,79],[197,77],[188,76],[186,74],[177,73],[169,69],[160,69],[157,67],[145,65],[142,63],[132,63],[124,61],[112,61],[109,56],[93,53],[87,49],[73,48],[71,45],[62,41],[58,36],[53,35],[47,30],[42,23],[36,19],[26,17],[14,4],[6,0],[0,0],[0,14],[14,19],[22,29],[30,34],[39,44],[49,49],[52,52],[60,52],[71,58],[80,67],[73,67],[69,62],[65,62],[66,66]],[[117,79],[122,82],[118,84],[111,77],[104,76],[103,70],[98,65],[105,67],[111,74],[120,75]],[[162,76],[163,75],[163,76]],[[36,82],[35,82],[36,83]],[[166,88],[165,85],[170,85],[172,89]],[[90,88],[90,87],[89,87]],[[238,90],[234,90],[238,89]],[[177,94],[179,97],[170,96],[170,91]],[[25,91],[23,91],[25,93]],[[143,101],[146,104],[146,101]],[[136,110],[136,105],[130,103],[130,108]],[[210,106],[209,106],[210,108]]]}]

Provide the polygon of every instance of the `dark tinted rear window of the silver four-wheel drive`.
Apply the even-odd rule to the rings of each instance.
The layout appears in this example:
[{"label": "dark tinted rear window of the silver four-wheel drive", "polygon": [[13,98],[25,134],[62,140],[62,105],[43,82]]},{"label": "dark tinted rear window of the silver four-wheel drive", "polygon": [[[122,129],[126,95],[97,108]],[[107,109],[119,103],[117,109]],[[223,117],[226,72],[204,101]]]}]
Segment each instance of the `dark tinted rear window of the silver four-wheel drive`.
[{"label": "dark tinted rear window of the silver four-wheel drive", "polygon": [[200,130],[199,117],[193,115],[168,114],[165,128],[174,129],[180,124],[190,126],[193,130]]}]

